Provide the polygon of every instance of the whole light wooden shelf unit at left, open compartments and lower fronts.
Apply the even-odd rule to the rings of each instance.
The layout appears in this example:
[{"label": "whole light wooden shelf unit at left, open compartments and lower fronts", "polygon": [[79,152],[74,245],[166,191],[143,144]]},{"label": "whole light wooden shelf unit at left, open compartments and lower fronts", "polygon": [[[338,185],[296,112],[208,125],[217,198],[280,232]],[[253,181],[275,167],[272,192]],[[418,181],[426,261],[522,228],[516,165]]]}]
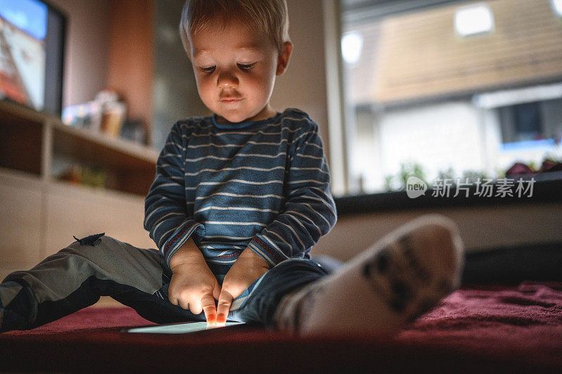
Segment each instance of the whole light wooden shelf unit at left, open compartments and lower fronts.
[{"label": "whole light wooden shelf unit at left, open compartments and lower fronts", "polygon": [[[155,247],[143,228],[158,153],[58,117],[0,101],[0,280],[74,239],[105,232]],[[105,188],[58,180],[60,160],[103,169]]]}]

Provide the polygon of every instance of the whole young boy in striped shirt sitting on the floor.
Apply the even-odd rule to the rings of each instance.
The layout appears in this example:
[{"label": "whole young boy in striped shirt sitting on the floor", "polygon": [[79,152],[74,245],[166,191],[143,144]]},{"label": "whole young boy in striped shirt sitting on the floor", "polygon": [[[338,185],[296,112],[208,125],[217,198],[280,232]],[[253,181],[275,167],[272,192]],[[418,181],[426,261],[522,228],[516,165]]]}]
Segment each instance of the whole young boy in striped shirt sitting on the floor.
[{"label": "whole young boy in striped shirt sitting on the floor", "polygon": [[177,122],[160,154],[145,200],[159,251],[94,236],[11,273],[0,330],[110,295],[158,323],[393,333],[456,287],[462,243],[443,217],[412,221],[332,275],[310,259],[336,209],[318,125],[269,103],[292,53],[288,23],[285,0],[185,3],[183,45],[214,115]]}]

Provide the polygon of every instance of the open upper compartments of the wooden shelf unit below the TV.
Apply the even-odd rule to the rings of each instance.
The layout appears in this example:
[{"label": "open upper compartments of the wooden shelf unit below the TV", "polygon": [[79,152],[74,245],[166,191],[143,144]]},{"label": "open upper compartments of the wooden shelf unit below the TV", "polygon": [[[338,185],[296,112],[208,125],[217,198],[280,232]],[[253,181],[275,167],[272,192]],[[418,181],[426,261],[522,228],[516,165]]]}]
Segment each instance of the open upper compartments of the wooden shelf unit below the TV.
[{"label": "open upper compartments of the wooden shelf unit below the TV", "polygon": [[53,160],[102,169],[107,189],[146,195],[158,153],[107,134],[69,127],[58,117],[0,101],[0,167],[53,179]]}]

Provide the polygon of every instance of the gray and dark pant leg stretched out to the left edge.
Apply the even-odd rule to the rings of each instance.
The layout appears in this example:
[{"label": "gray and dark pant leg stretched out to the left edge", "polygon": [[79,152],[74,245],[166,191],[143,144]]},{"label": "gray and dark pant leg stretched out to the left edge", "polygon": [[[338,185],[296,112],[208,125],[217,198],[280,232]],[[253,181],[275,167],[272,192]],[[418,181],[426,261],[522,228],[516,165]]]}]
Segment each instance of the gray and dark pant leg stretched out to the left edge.
[{"label": "gray and dark pant leg stretched out to the left edge", "polygon": [[183,309],[155,295],[164,283],[164,266],[157,250],[139,249],[109,236],[94,246],[72,243],[33,269],[4,279],[0,330],[48,323],[94,304],[100,295],[133,307],[152,321],[185,321]]}]

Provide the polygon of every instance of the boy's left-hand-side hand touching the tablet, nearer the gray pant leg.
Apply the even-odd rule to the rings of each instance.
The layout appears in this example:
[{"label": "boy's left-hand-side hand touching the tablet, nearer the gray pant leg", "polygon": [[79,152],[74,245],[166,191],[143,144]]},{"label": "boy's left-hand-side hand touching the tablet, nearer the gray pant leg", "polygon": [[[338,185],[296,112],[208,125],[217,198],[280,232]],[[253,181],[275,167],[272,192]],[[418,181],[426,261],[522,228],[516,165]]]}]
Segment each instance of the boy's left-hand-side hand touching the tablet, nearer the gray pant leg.
[{"label": "boy's left-hand-side hand touching the tablet, nearer the gray pant leg", "polygon": [[192,314],[204,311],[207,322],[215,323],[215,299],[221,293],[221,286],[191,238],[172,255],[170,269],[170,302],[189,309]]}]

